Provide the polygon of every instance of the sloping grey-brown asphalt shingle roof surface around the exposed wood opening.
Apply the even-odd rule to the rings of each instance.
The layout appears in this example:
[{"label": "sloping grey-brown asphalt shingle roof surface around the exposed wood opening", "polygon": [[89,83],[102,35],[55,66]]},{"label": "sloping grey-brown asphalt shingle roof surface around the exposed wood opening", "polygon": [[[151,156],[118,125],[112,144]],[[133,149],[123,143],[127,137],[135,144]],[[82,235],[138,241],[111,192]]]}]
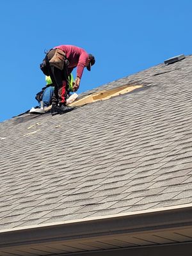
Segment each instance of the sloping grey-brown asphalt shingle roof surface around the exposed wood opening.
[{"label": "sloping grey-brown asphalt shingle roof surface around the exposed wood opening", "polygon": [[0,124],[0,231],[192,202],[192,56],[118,79],[142,88]]}]

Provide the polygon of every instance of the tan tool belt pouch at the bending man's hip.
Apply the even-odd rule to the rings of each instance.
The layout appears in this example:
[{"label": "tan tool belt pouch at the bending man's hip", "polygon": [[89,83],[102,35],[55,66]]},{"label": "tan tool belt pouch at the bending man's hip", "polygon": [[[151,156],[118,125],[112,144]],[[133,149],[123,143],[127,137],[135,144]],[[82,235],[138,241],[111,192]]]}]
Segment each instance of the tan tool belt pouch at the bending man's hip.
[{"label": "tan tool belt pouch at the bending man's hip", "polygon": [[[69,65],[69,61],[66,58],[65,52],[61,51],[58,48],[52,50],[54,50],[54,55],[52,56],[52,58],[49,58],[49,53],[47,54],[49,58],[49,65],[63,70],[64,66],[66,67]],[[52,52],[50,51],[50,54],[51,53]]]}]

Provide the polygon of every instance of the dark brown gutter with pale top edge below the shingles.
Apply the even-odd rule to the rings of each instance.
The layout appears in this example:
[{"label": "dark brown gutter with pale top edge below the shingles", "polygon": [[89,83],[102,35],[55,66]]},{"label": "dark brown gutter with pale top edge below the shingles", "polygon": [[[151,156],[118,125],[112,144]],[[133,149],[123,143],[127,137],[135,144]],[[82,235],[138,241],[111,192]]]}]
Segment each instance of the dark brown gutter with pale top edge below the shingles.
[{"label": "dark brown gutter with pale top edge below the shingles", "polygon": [[83,241],[183,227],[192,227],[192,204],[1,230],[0,248],[59,241],[72,242],[79,239]]}]

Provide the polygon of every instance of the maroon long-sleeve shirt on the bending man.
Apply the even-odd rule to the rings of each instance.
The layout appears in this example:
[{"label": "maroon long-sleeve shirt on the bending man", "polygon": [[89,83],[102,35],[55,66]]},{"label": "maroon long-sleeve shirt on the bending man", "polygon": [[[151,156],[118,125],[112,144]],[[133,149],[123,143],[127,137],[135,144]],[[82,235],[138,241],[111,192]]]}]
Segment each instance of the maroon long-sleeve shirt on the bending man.
[{"label": "maroon long-sleeve shirt on the bending man", "polygon": [[59,45],[54,48],[65,52],[70,63],[68,65],[68,72],[71,73],[72,70],[77,67],[77,76],[81,78],[84,67],[88,64],[88,53],[84,51],[84,49],[74,45]]}]

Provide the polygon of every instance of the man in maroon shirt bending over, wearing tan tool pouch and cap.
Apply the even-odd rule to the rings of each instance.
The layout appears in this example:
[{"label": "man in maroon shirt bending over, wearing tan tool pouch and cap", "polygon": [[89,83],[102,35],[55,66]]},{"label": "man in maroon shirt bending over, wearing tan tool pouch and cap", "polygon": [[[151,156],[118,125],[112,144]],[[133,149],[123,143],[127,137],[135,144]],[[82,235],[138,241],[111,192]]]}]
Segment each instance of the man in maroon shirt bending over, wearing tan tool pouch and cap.
[{"label": "man in maroon shirt bending over, wearing tan tool pouch and cap", "polygon": [[51,76],[54,85],[52,115],[63,114],[74,109],[66,106],[68,76],[77,67],[77,76],[73,86],[73,91],[76,92],[84,67],[90,71],[94,64],[95,58],[92,54],[74,45],[59,45],[47,52],[40,68],[45,75]]}]

